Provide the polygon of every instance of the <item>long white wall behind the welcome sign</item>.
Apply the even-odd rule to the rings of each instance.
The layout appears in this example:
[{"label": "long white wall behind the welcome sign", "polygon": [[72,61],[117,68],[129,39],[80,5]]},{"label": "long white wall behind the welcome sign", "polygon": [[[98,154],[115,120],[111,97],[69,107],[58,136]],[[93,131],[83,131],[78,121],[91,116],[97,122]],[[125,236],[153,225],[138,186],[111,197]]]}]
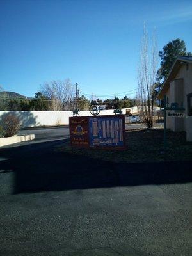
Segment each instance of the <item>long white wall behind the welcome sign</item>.
[{"label": "long white wall behind the welcome sign", "polygon": [[[138,107],[129,108],[131,113],[138,113]],[[99,115],[114,115],[112,110],[102,110]],[[72,111],[0,111],[0,122],[3,115],[12,113],[18,116],[22,128],[36,127],[42,125],[60,125],[68,124],[69,117],[73,116]],[[126,108],[122,109],[122,113],[126,113]],[[79,116],[90,116],[89,111],[80,111]]]}]

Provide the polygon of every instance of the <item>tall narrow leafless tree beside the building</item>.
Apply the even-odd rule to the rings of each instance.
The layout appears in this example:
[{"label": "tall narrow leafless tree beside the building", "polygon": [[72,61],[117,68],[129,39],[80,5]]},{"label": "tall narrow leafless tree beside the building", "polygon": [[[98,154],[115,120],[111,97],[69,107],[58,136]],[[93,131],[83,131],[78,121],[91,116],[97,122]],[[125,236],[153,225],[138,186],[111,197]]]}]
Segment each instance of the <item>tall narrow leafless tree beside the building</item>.
[{"label": "tall narrow leafless tree beside the building", "polygon": [[140,63],[138,65],[138,100],[143,122],[148,128],[153,127],[153,111],[157,74],[157,42],[155,32],[152,42],[148,42],[147,29],[144,24],[141,41]]}]

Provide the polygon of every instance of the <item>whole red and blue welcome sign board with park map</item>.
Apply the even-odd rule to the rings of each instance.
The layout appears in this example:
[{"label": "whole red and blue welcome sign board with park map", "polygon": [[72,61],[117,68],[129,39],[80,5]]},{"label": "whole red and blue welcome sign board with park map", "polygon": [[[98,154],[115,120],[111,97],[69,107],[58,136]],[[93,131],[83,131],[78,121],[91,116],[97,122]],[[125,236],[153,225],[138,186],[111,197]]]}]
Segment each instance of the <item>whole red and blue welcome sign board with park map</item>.
[{"label": "whole red and blue welcome sign board with park map", "polygon": [[124,115],[70,117],[72,147],[125,148]]}]

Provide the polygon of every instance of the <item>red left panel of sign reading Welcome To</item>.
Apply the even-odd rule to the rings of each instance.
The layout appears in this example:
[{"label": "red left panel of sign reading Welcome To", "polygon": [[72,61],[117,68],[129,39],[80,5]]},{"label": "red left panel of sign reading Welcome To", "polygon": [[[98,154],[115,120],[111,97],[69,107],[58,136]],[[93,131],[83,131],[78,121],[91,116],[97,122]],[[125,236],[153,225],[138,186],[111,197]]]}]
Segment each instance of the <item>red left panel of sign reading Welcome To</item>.
[{"label": "red left panel of sign reading Welcome To", "polygon": [[69,118],[70,143],[73,147],[89,147],[88,116]]}]

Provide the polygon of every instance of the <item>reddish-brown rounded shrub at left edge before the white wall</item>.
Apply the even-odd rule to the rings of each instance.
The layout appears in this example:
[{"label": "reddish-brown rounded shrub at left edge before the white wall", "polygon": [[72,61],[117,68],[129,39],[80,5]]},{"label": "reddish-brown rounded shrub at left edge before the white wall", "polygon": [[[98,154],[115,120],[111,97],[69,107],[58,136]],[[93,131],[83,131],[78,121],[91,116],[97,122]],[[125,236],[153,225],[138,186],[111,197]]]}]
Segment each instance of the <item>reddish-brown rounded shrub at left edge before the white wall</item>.
[{"label": "reddish-brown rounded shrub at left edge before the white wall", "polygon": [[17,116],[8,114],[1,118],[1,126],[3,128],[4,137],[14,136],[20,129],[20,120]]}]

